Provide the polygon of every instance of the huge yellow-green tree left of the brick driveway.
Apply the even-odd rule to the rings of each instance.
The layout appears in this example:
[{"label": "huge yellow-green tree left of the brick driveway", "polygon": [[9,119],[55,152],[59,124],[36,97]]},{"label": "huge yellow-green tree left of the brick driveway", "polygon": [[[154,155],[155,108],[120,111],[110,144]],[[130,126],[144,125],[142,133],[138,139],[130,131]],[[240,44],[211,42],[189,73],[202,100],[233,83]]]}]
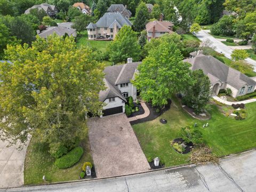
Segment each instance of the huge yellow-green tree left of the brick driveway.
[{"label": "huge yellow-green tree left of the brick driveway", "polygon": [[[7,46],[0,65],[2,139],[27,140],[31,134],[50,148],[69,148],[83,138],[85,114],[98,114],[104,90],[103,66],[73,37],[38,37],[28,46]],[[55,143],[55,145],[54,145]]]}]

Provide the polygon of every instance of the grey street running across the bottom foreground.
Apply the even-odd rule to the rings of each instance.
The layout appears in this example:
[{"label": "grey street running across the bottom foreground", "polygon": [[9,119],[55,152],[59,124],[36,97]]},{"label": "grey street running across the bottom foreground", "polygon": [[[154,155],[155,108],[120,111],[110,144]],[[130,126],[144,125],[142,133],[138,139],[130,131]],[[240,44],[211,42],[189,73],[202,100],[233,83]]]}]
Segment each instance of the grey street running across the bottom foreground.
[{"label": "grey street running across the bottom foreground", "polygon": [[[5,191],[255,191],[256,151],[221,159],[220,166],[190,165],[126,177],[71,182],[61,185],[23,187]],[[0,190],[1,191],[1,190]]]}]

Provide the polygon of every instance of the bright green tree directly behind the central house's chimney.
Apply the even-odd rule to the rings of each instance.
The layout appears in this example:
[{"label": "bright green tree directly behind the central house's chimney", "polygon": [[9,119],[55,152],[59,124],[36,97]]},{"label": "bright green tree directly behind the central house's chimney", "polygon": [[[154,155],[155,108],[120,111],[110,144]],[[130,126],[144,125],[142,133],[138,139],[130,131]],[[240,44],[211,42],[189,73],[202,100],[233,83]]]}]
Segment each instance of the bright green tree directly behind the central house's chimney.
[{"label": "bright green tree directly behind the central house's chimney", "polygon": [[130,26],[123,26],[114,38],[114,41],[108,46],[110,61],[114,63],[126,61],[132,58],[138,61],[140,58],[140,45],[136,33]]}]

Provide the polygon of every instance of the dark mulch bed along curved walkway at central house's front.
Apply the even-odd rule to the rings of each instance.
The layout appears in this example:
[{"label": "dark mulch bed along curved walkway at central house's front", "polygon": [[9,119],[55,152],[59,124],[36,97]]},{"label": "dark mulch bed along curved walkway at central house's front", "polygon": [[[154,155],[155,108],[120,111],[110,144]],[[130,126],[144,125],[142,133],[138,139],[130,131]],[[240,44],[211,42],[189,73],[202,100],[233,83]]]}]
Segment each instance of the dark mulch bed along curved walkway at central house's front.
[{"label": "dark mulch bed along curved walkway at central house's front", "polygon": [[[147,116],[145,118],[142,118],[142,119],[137,119],[135,121],[132,121],[132,122],[130,122],[130,124],[135,125],[135,124],[138,124],[138,123],[143,123],[143,122],[154,120],[155,118],[161,116],[165,111],[169,110],[170,107],[171,107],[171,103],[172,103],[172,101],[168,100],[168,103],[165,105],[164,108],[158,108],[156,106],[153,107],[151,102],[148,102],[148,103],[145,102],[145,104],[147,105],[147,107],[150,111],[149,116]],[[159,113],[156,112],[157,108],[159,109]]]}]

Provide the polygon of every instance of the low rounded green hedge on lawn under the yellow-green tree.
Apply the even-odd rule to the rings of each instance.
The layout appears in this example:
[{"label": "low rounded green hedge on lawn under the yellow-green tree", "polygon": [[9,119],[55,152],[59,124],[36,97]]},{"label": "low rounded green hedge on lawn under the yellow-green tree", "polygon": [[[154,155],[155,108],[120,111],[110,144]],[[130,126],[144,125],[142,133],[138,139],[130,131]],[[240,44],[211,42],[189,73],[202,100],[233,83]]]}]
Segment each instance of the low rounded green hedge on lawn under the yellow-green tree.
[{"label": "low rounded green hedge on lawn under the yellow-green tree", "polygon": [[54,165],[59,167],[59,169],[67,169],[75,165],[82,157],[84,150],[82,147],[75,147],[69,151],[66,155],[56,159]]}]

